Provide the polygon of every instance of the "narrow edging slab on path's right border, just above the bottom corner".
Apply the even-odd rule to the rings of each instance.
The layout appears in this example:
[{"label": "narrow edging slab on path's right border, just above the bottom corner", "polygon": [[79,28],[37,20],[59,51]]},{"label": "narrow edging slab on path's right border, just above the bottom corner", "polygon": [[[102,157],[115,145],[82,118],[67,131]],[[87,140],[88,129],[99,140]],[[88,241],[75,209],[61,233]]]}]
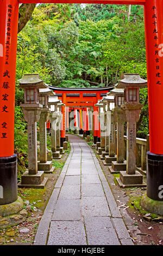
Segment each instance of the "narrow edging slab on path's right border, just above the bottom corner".
[{"label": "narrow edging slab on path's right border, just above the bottom corner", "polygon": [[119,239],[130,239],[130,235],[122,218],[111,218],[111,221]]}]

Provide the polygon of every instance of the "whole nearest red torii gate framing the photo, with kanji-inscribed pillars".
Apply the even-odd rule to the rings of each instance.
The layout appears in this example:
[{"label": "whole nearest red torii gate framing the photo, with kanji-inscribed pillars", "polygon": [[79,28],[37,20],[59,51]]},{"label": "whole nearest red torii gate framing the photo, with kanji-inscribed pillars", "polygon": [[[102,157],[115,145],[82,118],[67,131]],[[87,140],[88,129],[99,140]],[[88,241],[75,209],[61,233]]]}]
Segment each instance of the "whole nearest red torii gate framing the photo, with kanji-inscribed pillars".
[{"label": "whole nearest red torii gate framing the photo, with kanji-inscribed pillars", "polygon": [[[0,0],[0,179],[5,179],[8,186],[13,186],[13,182],[11,182],[12,175],[10,178],[5,176],[6,170],[4,169],[4,164],[12,163],[16,160],[16,156],[14,155],[14,100],[18,5],[20,3],[103,3],[144,5],[150,134],[150,153],[147,154],[147,195],[149,198],[162,201],[163,198],[159,198],[158,194],[159,189],[163,184],[163,115],[161,113],[161,110],[163,109],[163,0]],[[150,165],[151,162],[152,164]],[[14,178],[14,182],[15,179],[16,178]],[[14,199],[17,198],[15,190],[14,192],[12,190],[9,191],[10,194],[12,194],[12,199],[4,201],[0,198],[0,204],[7,204],[10,201],[14,202]]]}]

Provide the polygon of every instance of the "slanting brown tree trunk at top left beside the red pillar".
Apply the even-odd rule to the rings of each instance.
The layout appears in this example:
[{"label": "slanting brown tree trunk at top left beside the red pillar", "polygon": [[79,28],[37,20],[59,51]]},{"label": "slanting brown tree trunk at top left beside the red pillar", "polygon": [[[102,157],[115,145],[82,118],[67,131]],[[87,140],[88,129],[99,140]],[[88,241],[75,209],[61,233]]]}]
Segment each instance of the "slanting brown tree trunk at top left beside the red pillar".
[{"label": "slanting brown tree trunk at top left beside the red pillar", "polygon": [[19,33],[30,20],[30,17],[33,14],[36,4],[21,4],[18,13],[18,32]]}]

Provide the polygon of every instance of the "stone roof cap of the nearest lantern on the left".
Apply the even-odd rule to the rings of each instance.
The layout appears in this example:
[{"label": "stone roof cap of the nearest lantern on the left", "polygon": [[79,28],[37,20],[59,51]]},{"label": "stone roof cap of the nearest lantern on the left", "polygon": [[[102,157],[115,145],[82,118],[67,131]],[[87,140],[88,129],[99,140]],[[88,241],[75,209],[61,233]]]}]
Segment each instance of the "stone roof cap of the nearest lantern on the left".
[{"label": "stone roof cap of the nearest lantern on the left", "polygon": [[39,74],[24,74],[18,81],[21,87],[36,86],[39,88],[48,88],[48,85],[41,80]]}]

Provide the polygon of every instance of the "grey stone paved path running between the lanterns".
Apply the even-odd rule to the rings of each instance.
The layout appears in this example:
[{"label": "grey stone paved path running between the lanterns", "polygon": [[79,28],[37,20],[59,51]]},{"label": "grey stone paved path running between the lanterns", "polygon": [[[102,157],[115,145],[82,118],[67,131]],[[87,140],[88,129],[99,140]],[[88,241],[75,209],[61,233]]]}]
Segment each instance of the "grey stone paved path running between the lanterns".
[{"label": "grey stone paved path running between the lanterns", "polygon": [[34,245],[133,245],[93,150],[77,136],[69,138],[71,153]]}]

